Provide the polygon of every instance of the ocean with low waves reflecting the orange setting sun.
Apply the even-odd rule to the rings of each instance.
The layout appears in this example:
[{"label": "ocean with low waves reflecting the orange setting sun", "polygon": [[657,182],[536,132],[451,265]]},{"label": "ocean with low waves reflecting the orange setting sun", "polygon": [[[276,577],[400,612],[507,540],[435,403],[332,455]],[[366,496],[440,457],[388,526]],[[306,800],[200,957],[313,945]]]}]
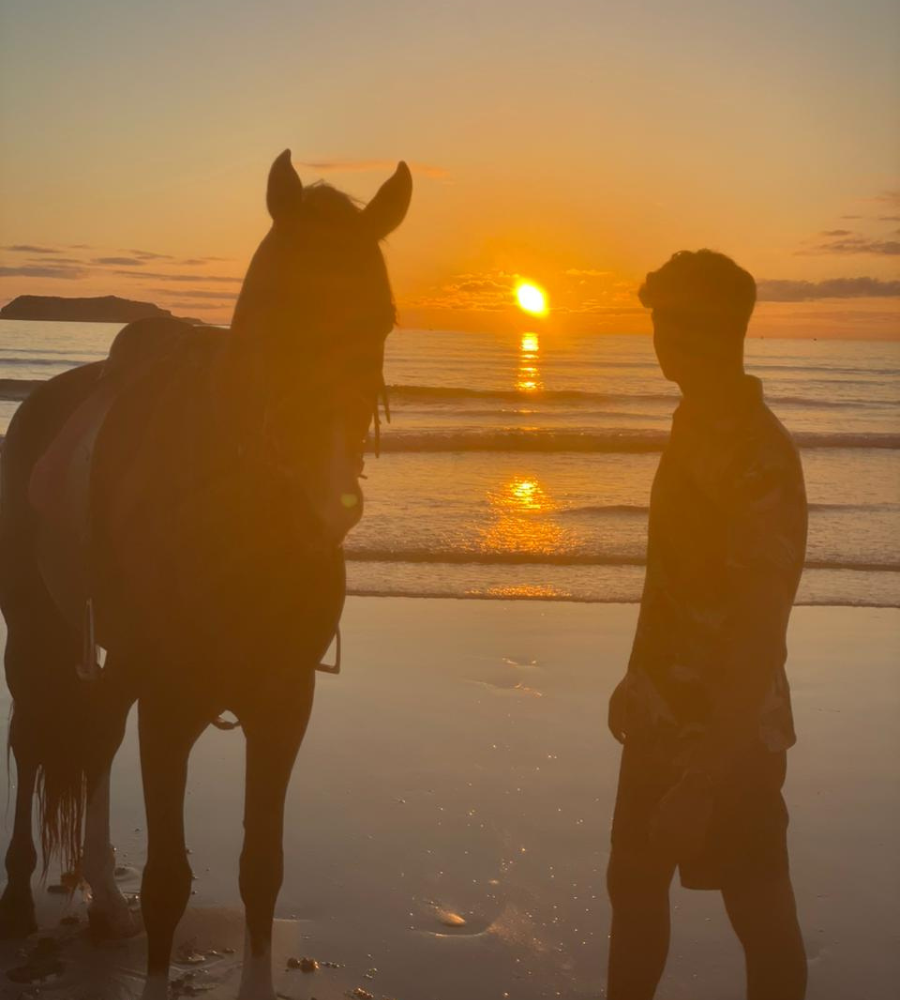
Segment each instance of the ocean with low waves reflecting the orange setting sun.
[{"label": "ocean with low waves reflecting the orange setting sun", "polygon": [[[36,380],[119,327],[0,321],[0,433]],[[900,343],[747,341],[801,448],[798,603],[900,606]],[[395,331],[392,422],[346,543],[356,594],[640,599],[647,504],[675,387],[648,337]]]}]

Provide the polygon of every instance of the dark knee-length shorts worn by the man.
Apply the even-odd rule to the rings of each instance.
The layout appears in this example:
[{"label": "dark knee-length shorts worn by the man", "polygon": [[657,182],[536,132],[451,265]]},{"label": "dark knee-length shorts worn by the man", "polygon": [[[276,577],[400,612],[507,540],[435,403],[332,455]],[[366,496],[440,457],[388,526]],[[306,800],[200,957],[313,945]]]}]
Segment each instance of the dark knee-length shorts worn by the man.
[{"label": "dark knee-length shorts worn by the man", "polygon": [[713,792],[705,845],[690,859],[667,856],[650,839],[659,803],[681,777],[681,768],[658,750],[626,742],[612,823],[612,850],[630,865],[677,865],[686,889],[740,887],[788,874],[788,811],[781,794],[785,751],[760,746],[736,763]]}]

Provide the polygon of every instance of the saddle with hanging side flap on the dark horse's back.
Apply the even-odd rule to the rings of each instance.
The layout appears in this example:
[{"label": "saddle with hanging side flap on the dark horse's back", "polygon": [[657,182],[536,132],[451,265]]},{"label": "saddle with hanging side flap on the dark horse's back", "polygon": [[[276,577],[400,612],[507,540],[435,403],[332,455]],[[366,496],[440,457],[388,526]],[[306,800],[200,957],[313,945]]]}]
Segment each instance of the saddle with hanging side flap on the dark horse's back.
[{"label": "saddle with hanging side flap on the dark horse's back", "polygon": [[[194,332],[174,319],[130,323],[113,341],[90,391],[35,463],[29,502],[39,515],[37,562],[54,603],[93,645],[92,482],[97,442],[116,404]],[[86,664],[93,669],[88,653]]]}]

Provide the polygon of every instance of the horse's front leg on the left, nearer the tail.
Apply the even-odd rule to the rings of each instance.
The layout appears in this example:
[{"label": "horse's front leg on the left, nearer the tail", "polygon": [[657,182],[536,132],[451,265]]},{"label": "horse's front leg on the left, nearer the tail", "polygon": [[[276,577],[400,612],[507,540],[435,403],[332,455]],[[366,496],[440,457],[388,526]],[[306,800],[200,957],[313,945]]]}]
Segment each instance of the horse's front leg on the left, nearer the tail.
[{"label": "horse's front leg on the left, nearer the tail", "polygon": [[213,712],[185,705],[175,692],[138,706],[141,772],[147,809],[147,864],[141,910],[147,929],[147,984],[142,1000],[166,1000],[172,939],[191,894],[184,845],[187,762]]}]

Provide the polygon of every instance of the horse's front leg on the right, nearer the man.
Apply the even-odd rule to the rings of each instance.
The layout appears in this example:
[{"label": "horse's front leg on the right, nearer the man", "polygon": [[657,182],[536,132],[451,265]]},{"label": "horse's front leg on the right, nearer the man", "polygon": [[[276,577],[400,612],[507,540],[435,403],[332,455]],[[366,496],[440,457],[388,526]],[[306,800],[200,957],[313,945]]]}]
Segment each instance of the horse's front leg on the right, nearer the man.
[{"label": "horse's front leg on the right, nearer the man", "polygon": [[247,917],[239,1000],[274,1000],[272,920],[284,871],[284,800],[312,711],[315,673],[302,671],[241,714],[247,790],[240,888]]}]

